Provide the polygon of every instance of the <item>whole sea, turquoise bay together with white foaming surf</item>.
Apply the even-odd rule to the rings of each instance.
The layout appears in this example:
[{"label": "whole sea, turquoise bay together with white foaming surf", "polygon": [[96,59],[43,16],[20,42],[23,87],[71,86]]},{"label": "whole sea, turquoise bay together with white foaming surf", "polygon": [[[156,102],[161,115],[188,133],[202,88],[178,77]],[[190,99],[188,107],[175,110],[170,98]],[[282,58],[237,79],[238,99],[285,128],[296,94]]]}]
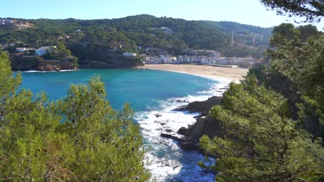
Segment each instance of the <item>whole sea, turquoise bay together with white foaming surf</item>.
[{"label": "whole sea, turquoise bay together with white foaming surf", "polygon": [[[21,75],[21,88],[34,93],[46,92],[51,100],[64,97],[72,84],[87,83],[91,77],[100,76],[111,106],[122,110],[125,103],[130,103],[135,111],[134,122],[140,125],[148,149],[145,160],[149,161],[146,167],[152,174],[152,181],[215,181],[215,175],[197,165],[199,161],[206,161],[205,156],[183,150],[177,141],[165,139],[160,134],[180,136],[177,134],[179,128],[195,123],[194,117],[199,113],[174,111],[187,104],[178,100],[204,101],[221,95],[219,88],[224,88],[227,80],[147,69],[28,71]],[[206,161],[210,162],[213,159]]]}]

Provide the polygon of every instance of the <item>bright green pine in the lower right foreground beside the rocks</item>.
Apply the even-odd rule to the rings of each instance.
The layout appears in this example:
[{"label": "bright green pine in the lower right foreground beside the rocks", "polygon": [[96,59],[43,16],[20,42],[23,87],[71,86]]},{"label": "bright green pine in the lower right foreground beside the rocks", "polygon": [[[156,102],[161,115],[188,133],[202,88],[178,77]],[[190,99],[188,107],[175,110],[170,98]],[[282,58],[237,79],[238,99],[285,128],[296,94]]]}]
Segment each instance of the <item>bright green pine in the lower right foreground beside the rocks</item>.
[{"label": "bright green pine in the lower right foreground beside the rocks", "polygon": [[203,136],[200,146],[217,156],[216,181],[320,181],[324,150],[292,121],[282,95],[255,77],[231,83],[210,115],[224,122],[224,138]]}]

